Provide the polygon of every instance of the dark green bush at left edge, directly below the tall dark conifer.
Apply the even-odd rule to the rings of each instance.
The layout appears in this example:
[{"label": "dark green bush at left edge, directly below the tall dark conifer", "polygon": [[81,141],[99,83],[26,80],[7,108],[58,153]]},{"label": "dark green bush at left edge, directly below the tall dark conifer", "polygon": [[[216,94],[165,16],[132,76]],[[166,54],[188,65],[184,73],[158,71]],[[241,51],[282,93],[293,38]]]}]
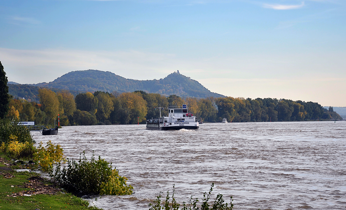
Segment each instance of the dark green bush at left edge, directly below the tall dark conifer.
[{"label": "dark green bush at left edge, directly below the tall dark conifer", "polygon": [[[0,120],[0,144],[7,145],[11,138],[15,136],[19,143],[28,142],[29,144],[35,144],[33,137],[25,126],[18,125],[18,119],[1,119]],[[12,137],[11,137],[12,136]],[[11,138],[10,138],[11,137]]]}]

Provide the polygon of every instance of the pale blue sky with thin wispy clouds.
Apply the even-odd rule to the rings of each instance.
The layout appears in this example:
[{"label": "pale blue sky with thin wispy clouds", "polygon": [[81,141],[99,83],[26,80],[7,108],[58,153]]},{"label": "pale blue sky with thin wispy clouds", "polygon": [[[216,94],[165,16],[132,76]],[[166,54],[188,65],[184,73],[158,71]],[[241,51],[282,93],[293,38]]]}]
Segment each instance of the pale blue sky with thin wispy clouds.
[{"label": "pale blue sky with thin wispy clouds", "polygon": [[0,0],[8,80],[179,70],[212,92],[346,107],[345,0]]}]

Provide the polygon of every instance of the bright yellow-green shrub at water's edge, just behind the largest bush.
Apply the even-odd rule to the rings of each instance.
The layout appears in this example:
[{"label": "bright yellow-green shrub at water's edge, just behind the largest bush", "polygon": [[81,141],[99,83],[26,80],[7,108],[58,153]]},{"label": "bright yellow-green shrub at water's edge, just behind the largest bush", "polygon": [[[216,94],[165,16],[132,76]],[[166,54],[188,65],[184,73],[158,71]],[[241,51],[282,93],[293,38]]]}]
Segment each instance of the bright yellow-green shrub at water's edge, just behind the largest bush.
[{"label": "bright yellow-green shrub at water's edge, just behind the largest bush", "polygon": [[36,167],[40,167],[42,171],[51,172],[53,164],[65,161],[63,149],[60,144],[54,145],[51,141],[47,142],[46,147],[40,142],[37,152],[34,154],[34,163]]}]

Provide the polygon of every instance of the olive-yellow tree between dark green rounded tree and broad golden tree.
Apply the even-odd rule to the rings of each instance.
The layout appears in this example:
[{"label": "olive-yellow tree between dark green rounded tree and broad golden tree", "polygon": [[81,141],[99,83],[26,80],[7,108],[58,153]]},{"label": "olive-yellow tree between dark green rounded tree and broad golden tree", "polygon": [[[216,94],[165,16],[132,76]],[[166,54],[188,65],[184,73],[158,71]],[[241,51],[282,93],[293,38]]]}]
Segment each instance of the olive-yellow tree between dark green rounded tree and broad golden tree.
[{"label": "olive-yellow tree between dark green rounded tree and broad golden tree", "polygon": [[97,94],[98,98],[98,108],[96,112],[96,118],[104,122],[110,116],[110,113],[114,110],[113,102],[110,98],[110,94],[101,92]]}]

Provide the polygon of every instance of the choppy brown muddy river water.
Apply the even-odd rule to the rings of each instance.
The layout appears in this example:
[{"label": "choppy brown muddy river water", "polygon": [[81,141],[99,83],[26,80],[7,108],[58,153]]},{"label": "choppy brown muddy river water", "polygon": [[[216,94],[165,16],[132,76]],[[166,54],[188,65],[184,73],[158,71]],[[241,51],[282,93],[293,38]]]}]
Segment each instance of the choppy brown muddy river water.
[{"label": "choppy brown muddy river water", "polygon": [[346,209],[346,121],[200,125],[152,131],[145,125],[69,126],[34,139],[61,144],[69,158],[100,155],[134,194],[89,199],[99,208],[149,209],[160,191],[179,203],[212,192],[234,209]]}]

